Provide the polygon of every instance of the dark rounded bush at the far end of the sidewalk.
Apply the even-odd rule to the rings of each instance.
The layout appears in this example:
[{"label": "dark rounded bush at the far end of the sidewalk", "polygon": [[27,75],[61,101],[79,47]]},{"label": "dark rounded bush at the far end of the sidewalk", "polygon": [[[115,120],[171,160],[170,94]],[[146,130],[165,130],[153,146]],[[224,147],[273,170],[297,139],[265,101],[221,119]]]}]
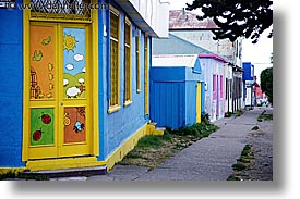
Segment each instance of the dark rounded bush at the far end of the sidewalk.
[{"label": "dark rounded bush at the far end of the sidewalk", "polygon": [[261,73],[261,88],[268,98],[268,102],[273,104],[273,67],[267,67]]}]

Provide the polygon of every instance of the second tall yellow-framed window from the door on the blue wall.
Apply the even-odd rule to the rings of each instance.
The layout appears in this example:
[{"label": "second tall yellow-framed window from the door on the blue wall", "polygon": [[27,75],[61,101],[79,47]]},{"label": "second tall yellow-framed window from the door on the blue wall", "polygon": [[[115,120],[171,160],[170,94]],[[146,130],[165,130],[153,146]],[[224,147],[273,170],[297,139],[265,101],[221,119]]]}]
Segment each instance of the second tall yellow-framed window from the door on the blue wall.
[{"label": "second tall yellow-framed window from the door on the blue wall", "polygon": [[124,23],[124,105],[131,100],[131,22],[125,17]]}]

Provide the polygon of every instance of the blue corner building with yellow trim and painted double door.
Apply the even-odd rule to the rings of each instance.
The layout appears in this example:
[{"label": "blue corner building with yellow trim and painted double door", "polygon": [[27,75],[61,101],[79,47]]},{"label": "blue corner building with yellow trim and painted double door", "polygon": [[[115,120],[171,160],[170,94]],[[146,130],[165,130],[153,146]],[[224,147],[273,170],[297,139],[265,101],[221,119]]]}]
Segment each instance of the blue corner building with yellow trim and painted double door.
[{"label": "blue corner building with yellow trim and painted double door", "polygon": [[0,173],[110,170],[133,149],[149,132],[152,38],[168,36],[168,8],[16,0],[1,9]]}]

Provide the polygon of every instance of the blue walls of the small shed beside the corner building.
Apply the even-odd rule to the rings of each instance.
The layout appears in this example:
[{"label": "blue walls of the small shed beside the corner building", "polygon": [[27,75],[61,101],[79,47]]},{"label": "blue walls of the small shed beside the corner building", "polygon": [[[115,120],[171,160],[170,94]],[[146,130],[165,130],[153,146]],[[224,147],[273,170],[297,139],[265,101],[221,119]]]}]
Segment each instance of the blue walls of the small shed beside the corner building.
[{"label": "blue walls of the small shed beside the corner building", "polygon": [[204,82],[204,74],[192,71],[185,66],[151,67],[151,120],[157,126],[176,129],[196,122],[196,83]]}]

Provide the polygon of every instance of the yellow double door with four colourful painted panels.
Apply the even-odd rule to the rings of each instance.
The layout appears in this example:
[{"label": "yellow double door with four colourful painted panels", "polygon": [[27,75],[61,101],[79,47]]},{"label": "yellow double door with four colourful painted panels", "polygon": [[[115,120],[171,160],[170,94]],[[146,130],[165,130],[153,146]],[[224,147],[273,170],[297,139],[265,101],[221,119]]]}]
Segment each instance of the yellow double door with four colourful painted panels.
[{"label": "yellow double door with four colourful painted panels", "polygon": [[31,23],[28,159],[92,154],[89,26]]}]

